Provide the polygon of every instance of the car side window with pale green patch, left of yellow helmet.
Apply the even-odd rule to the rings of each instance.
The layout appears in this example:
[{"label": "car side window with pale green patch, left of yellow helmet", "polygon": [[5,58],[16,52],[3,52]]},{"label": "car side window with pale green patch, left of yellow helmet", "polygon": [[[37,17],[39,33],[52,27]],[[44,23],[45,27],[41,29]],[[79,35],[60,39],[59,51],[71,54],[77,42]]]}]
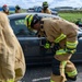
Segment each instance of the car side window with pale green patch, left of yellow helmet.
[{"label": "car side window with pale green patch, left of yellow helmet", "polygon": [[16,36],[35,36],[35,33],[27,30],[24,17],[17,17],[10,20],[10,24],[13,28],[13,32]]}]

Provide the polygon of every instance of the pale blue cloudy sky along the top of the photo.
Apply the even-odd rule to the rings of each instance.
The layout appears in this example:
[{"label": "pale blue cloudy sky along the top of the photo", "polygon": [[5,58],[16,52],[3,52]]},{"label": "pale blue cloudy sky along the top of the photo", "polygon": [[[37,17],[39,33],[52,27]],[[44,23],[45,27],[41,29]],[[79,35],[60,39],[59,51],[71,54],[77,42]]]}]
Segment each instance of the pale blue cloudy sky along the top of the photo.
[{"label": "pale blue cloudy sky along the top of the photo", "polygon": [[34,5],[42,5],[43,1],[47,1],[50,8],[55,7],[82,7],[82,0],[1,0],[0,5],[21,5],[22,8],[30,8]]}]

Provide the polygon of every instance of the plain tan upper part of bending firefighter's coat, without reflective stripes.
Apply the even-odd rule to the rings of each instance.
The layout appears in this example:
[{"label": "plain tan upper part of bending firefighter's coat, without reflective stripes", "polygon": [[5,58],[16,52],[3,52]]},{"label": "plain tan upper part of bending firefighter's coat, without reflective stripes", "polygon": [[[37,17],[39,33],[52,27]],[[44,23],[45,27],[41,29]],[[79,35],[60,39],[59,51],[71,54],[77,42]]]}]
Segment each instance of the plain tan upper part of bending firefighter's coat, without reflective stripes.
[{"label": "plain tan upper part of bending firefighter's coat, without reflective stripes", "polygon": [[60,34],[67,35],[67,38],[65,38],[63,42],[72,43],[78,40],[79,27],[74,23],[62,19],[43,19],[42,21],[44,21],[43,31],[45,31],[49,42],[55,43],[55,39],[60,36]]}]

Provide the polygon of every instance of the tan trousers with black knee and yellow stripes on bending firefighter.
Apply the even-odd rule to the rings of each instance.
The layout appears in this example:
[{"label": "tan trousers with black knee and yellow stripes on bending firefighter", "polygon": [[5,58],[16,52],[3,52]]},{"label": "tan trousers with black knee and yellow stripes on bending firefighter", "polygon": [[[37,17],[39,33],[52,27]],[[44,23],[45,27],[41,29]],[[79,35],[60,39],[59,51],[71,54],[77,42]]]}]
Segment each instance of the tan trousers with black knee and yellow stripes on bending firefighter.
[{"label": "tan trousers with black knee and yellow stripes on bending firefighter", "polygon": [[55,55],[52,59],[52,73],[50,82],[65,82],[67,81],[66,74],[69,78],[74,78],[78,71],[74,65],[69,60],[72,55]]}]

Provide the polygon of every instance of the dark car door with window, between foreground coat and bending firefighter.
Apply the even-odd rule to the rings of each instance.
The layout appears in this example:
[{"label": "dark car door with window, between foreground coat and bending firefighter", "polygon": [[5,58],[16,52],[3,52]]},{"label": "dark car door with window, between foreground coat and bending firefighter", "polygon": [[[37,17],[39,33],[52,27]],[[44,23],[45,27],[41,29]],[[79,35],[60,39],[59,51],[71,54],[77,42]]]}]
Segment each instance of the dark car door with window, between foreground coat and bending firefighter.
[{"label": "dark car door with window, between foreground coat and bending firefighter", "polygon": [[43,40],[44,37],[38,38],[36,33],[28,31],[26,25],[24,24],[24,17],[11,19],[10,24],[22,46],[26,63],[43,63],[47,54],[40,45],[40,40]]}]

